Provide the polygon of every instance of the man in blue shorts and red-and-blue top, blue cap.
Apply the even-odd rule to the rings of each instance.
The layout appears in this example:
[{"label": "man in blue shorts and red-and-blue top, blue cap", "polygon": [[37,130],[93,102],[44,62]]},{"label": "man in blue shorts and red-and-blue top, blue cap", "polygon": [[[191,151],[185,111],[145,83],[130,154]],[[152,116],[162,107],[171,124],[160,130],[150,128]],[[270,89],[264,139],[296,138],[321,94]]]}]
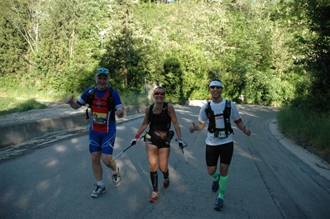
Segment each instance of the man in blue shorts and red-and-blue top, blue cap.
[{"label": "man in blue shorts and red-and-blue top, blue cap", "polygon": [[[96,87],[88,88],[83,92],[78,101],[74,102],[74,96],[65,99],[73,109],[90,105],[90,154],[92,156],[92,169],[96,179],[96,189],[91,196],[96,198],[105,192],[103,183],[103,163],[112,169],[114,185],[121,183],[121,175],[116,162],[112,160],[114,140],[116,138],[116,118],[124,116],[124,106],[118,92],[108,86],[109,70],[99,68],[95,74]],[[88,116],[88,114],[87,114]]]}]

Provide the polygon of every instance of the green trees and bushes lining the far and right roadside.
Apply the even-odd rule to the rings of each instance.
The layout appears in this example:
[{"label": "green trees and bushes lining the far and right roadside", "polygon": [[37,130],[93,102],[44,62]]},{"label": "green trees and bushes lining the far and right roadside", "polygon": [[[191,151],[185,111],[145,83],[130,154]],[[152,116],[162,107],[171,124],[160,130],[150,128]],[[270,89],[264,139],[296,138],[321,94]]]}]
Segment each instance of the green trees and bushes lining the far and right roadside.
[{"label": "green trees and bushes lining the far and right roadside", "polygon": [[225,98],[282,107],[283,133],[329,152],[329,11],[329,0],[3,0],[1,114],[78,98],[98,67],[125,105],[147,105],[147,85],[172,103],[207,99],[220,79]]}]

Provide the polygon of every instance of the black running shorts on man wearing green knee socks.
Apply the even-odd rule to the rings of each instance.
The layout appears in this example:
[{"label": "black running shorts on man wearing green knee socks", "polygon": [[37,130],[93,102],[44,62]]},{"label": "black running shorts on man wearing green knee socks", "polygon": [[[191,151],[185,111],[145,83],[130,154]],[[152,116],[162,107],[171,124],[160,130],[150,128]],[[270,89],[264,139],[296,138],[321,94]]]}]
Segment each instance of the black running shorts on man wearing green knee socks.
[{"label": "black running shorts on man wearing green knee socks", "polygon": [[234,143],[227,143],[225,145],[206,145],[205,157],[207,167],[215,167],[218,165],[218,158],[220,156],[220,163],[230,165],[231,158],[234,152]]}]

